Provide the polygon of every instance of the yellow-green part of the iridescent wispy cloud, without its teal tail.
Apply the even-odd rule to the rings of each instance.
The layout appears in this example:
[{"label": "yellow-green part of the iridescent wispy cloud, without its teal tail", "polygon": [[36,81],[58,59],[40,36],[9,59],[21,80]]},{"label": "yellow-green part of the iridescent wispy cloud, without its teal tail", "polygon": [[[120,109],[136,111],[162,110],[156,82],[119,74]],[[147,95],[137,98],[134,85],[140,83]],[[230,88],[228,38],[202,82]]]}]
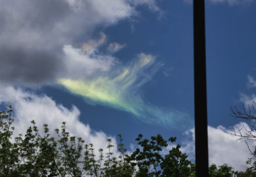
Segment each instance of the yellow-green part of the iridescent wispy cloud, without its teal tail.
[{"label": "yellow-green part of the iridescent wispy cloud, without its teal tail", "polygon": [[[70,92],[86,97],[90,101],[106,104],[139,116],[139,105],[136,104],[141,103],[141,99],[137,98],[135,102],[130,99],[135,97],[136,83],[140,83],[139,73],[146,66],[152,65],[154,60],[152,55],[141,53],[136,62],[128,67],[123,67],[117,74],[109,73],[106,76],[101,75],[89,80],[62,78],[58,80],[58,83],[65,86]],[[132,92],[133,94],[131,94]]]}]

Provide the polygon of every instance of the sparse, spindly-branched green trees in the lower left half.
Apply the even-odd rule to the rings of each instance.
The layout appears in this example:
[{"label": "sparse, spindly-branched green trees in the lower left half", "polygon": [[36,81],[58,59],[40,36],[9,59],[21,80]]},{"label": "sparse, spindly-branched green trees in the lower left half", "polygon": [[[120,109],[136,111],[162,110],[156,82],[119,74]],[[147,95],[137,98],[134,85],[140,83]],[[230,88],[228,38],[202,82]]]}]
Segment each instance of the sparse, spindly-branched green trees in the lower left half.
[{"label": "sparse, spindly-branched green trees in the lower left half", "polygon": [[107,160],[102,165],[103,150],[99,149],[99,159],[96,158],[92,144],[85,144],[84,139],[70,136],[66,131],[65,122],[61,130],[56,129],[58,139],[49,134],[47,124],[44,132],[40,134],[31,121],[25,136],[19,134],[12,141],[14,127],[12,127],[12,107],[8,111],[0,112],[0,176],[132,176],[133,169],[124,159],[124,147],[120,136],[120,157],[112,157],[111,139],[108,139],[109,152]]}]

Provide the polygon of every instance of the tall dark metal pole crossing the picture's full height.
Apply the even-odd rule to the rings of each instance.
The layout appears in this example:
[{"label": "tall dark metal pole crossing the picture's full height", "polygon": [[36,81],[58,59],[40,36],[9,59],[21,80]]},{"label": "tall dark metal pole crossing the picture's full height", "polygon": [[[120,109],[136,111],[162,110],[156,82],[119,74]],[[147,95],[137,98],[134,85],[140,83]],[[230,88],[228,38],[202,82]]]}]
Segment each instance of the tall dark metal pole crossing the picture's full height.
[{"label": "tall dark metal pole crossing the picture's full height", "polygon": [[209,176],[204,0],[193,1],[196,177]]}]

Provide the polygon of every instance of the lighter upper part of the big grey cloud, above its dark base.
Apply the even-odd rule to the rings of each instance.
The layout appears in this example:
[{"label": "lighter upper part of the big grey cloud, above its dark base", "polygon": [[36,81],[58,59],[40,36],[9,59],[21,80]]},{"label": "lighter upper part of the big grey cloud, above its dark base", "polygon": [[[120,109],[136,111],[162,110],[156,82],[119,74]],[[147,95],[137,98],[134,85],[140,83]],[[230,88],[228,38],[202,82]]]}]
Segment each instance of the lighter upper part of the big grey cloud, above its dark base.
[{"label": "lighter upper part of the big grey cloud, above its dark base", "polygon": [[[79,32],[88,35],[95,25],[111,25],[134,15],[124,0],[89,1],[1,1],[2,43],[28,48],[55,48],[72,40]],[[115,2],[115,3],[114,3]],[[40,8],[36,8],[40,6]],[[75,8],[79,7],[79,8]],[[35,11],[35,9],[37,9]],[[39,11],[38,11],[39,10]],[[90,20],[85,20],[90,19]]]}]

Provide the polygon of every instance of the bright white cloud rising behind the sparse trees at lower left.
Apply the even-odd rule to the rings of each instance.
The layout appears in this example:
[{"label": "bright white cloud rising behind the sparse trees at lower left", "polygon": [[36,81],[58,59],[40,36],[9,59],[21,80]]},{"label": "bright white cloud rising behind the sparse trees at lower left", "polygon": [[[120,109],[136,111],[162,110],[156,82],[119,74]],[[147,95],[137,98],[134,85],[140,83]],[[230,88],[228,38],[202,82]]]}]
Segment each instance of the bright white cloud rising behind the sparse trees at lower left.
[{"label": "bright white cloud rising behind the sparse trees at lower left", "polygon": [[93,131],[89,125],[79,121],[80,112],[76,106],[68,110],[61,104],[56,104],[48,96],[38,96],[33,92],[13,87],[1,87],[0,104],[3,103],[12,104],[16,136],[20,133],[23,135],[26,133],[29,125],[31,125],[31,120],[35,120],[38,129],[41,131],[43,125],[48,124],[52,135],[54,129],[60,128],[62,122],[67,122],[67,131],[72,136],[85,139],[86,143],[92,143],[95,153],[98,153],[99,148],[105,150],[108,145],[108,138],[112,138],[113,145],[115,145],[113,152],[118,155],[116,139],[104,132]]}]

